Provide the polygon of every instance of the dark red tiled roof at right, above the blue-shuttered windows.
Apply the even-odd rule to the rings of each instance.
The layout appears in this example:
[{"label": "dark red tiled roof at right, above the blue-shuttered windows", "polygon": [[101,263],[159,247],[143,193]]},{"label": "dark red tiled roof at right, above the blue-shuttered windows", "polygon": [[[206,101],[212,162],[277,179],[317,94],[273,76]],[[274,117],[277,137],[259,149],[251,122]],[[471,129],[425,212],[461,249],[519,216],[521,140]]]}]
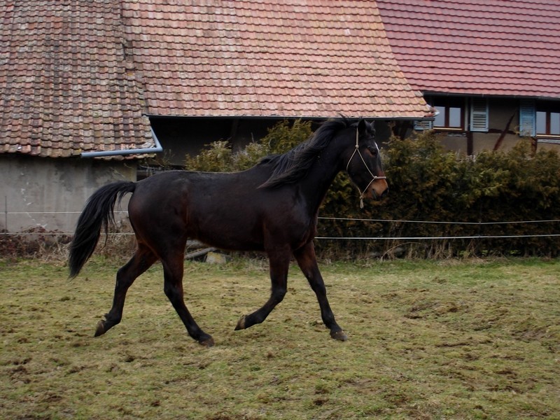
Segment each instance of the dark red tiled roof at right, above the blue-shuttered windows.
[{"label": "dark red tiled roof at right, above the blue-shuttered windows", "polygon": [[423,92],[560,98],[560,2],[377,0],[393,52]]}]

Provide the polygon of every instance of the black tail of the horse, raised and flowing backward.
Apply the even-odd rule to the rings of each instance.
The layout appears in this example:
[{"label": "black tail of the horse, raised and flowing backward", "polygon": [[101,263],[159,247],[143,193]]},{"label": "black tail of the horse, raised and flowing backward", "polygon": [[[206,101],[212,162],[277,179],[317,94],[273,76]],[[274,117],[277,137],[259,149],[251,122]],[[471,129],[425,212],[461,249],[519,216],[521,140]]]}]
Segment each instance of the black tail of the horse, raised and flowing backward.
[{"label": "black tail of the horse, raised and flowing backward", "polygon": [[78,218],[76,233],[70,244],[70,278],[76,277],[99,241],[102,226],[105,232],[109,223],[115,223],[113,207],[117,198],[123,200],[126,193],[133,193],[136,184],[131,181],[118,181],[99,188],[87,200],[85,208]]}]

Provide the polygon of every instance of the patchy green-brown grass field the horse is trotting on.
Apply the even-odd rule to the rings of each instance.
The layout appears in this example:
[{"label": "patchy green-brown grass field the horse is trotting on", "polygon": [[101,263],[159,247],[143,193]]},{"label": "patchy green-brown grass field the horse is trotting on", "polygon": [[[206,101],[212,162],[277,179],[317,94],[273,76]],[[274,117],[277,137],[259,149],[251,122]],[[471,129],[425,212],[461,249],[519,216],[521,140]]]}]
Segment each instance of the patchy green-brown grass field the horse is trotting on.
[{"label": "patchy green-brown grass field the horse is trotting on", "polygon": [[0,260],[2,419],[560,419],[560,260],[321,265],[349,341],[293,266],[265,323],[267,266],[186,262],[190,339],[153,267],[94,338],[120,262]]}]

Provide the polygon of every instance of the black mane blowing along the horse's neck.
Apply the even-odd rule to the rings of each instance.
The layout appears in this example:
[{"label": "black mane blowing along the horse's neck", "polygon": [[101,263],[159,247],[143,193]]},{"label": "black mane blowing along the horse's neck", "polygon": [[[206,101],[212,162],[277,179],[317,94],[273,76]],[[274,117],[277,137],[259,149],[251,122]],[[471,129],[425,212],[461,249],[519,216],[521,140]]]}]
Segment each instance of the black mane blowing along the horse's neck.
[{"label": "black mane blowing along the horse's neck", "polygon": [[318,154],[330,144],[335,134],[350,125],[350,121],[344,117],[327,120],[309,139],[298,144],[292,150],[283,155],[271,155],[263,158],[260,161],[261,165],[272,164],[274,168],[269,179],[260,188],[274,188],[300,181],[307,174]]}]

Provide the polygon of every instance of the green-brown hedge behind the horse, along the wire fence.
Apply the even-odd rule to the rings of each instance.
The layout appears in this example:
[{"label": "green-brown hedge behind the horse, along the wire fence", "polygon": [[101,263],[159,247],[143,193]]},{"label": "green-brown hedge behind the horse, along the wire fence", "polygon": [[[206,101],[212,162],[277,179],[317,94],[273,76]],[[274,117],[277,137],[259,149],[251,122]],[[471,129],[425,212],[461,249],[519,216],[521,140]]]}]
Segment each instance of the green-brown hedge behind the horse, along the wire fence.
[{"label": "green-brown hedge behind the horse, along the wire fence", "polygon": [[[227,142],[215,142],[200,155],[188,157],[187,169],[246,169],[265,155],[288,151],[309,135],[310,123],[282,122],[238,153],[232,153]],[[437,136],[425,132],[411,139],[391,139],[382,153],[388,196],[360,209],[358,190],[346,174],[339,174],[323,202],[318,237],[477,238],[317,239],[319,252],[338,257],[559,255],[559,238],[519,236],[560,233],[560,223],[504,223],[560,219],[556,152],[533,154],[530,142],[521,140],[507,152],[458,155],[444,151]],[[486,238],[496,235],[511,237]]]}]

